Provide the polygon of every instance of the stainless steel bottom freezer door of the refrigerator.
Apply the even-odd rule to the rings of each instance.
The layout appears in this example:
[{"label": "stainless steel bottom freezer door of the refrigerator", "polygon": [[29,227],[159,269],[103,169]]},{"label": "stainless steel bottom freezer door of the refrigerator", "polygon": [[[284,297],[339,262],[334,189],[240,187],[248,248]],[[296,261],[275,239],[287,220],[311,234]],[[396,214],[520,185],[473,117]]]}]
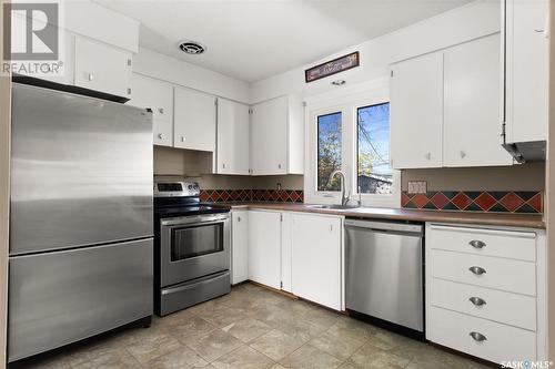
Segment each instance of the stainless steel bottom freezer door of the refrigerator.
[{"label": "stainless steel bottom freezer door of the refrigerator", "polygon": [[11,257],[9,361],[152,315],[152,239]]}]

